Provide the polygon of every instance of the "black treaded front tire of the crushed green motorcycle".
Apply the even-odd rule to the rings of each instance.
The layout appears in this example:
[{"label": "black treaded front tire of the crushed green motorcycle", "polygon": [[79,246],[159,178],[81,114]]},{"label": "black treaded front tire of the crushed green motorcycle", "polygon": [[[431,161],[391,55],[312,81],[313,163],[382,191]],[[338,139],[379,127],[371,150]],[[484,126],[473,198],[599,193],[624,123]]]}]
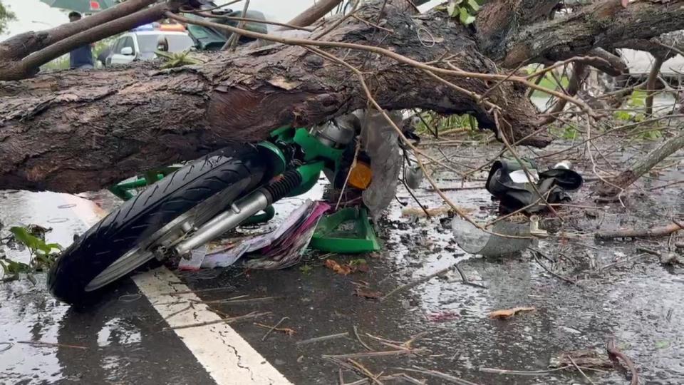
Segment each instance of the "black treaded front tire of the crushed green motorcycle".
[{"label": "black treaded front tire of the crushed green motorcycle", "polygon": [[[153,238],[169,234],[170,230],[166,229],[176,218],[182,219],[184,213],[199,208],[202,202],[205,210],[202,215],[214,216],[268,180],[269,165],[260,151],[252,145],[224,148],[150,185],[90,227],[58,257],[48,272],[48,289],[54,297],[69,304],[95,299],[103,287],[152,260],[154,256],[143,251],[142,245],[148,247],[153,244]],[[220,204],[216,205],[213,201],[218,198]],[[209,219],[194,225],[202,225]],[[131,258],[130,264],[135,266],[121,262],[127,260],[126,256],[135,257],[136,252],[140,252],[139,258],[146,258],[148,253],[150,258],[142,262]],[[112,266],[113,272],[105,272],[119,260],[119,265]],[[120,272],[123,274],[118,275]],[[93,289],[90,283],[100,273],[105,273],[105,281],[106,274],[118,277]]]}]

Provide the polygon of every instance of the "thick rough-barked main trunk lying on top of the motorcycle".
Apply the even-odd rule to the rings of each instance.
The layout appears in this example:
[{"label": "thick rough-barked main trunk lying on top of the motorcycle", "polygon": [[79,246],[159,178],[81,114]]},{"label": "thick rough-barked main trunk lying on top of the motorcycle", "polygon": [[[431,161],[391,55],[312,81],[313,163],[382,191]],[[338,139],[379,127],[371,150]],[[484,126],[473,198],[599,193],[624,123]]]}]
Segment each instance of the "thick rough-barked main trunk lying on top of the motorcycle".
[{"label": "thick rough-barked main trunk lying on top of the motorcycle", "polygon": [[[381,6],[382,1],[367,4],[358,14],[375,20]],[[452,58],[458,68],[496,71],[492,61],[477,54],[472,34],[457,21],[412,17],[391,1],[385,13],[385,27],[393,34],[383,31],[378,40],[386,48],[423,62],[445,51],[461,52]],[[442,40],[427,46],[415,34],[421,27]],[[348,19],[327,39],[373,45],[368,39],[374,31]],[[369,74],[367,81],[383,108],[473,113],[480,127],[494,128],[485,106],[418,69],[363,51],[329,52]],[[306,48],[274,45],[199,58],[206,63],[170,71],[144,63],[0,83],[0,189],[95,190],[229,143],[263,140],[282,125],[323,123],[366,106],[351,71]],[[449,80],[480,94],[494,86],[472,78]],[[488,94],[489,101],[505,106],[514,140],[538,129],[537,110],[524,91],[504,83]],[[528,143],[548,141],[536,137]]]}]

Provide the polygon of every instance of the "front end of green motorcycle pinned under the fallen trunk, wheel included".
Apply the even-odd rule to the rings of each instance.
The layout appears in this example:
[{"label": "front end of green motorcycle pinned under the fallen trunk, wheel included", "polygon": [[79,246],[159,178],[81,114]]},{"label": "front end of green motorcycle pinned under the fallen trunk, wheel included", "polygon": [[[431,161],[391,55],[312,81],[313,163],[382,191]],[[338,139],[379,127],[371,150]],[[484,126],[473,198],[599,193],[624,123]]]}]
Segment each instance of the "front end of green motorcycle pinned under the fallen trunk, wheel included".
[{"label": "front end of green motorcycle pinned under the fallen trunk, wheel included", "polygon": [[[353,162],[359,130],[284,127],[262,143],[223,148],[118,185],[127,200],[63,252],[48,274],[50,291],[63,302],[85,302],[152,259],[185,257],[259,212],[272,216],[274,202],[306,193],[321,173],[341,187],[361,164]],[[353,171],[370,183],[370,168]]]}]

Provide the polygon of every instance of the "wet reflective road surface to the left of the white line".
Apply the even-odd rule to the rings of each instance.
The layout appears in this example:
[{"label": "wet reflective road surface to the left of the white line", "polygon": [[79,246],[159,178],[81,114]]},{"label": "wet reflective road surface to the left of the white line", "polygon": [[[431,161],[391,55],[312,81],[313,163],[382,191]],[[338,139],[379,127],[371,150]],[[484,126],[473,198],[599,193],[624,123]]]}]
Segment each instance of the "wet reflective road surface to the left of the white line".
[{"label": "wet reflective road surface to the left of the white line", "polygon": [[[114,202],[106,195],[94,197],[105,205]],[[2,236],[10,226],[37,224],[53,228],[46,233],[48,242],[68,246],[88,226],[61,208],[66,206],[71,205],[62,194],[0,191]],[[54,221],[58,218],[65,220]],[[7,250],[7,256],[29,258],[21,247]],[[35,286],[27,279],[0,283],[0,342],[9,343],[0,346],[0,384],[186,384],[189,378],[210,383],[175,334],[160,334],[161,317],[130,279],[114,285],[95,306],[76,309],[48,294],[45,274],[35,276]]]}]

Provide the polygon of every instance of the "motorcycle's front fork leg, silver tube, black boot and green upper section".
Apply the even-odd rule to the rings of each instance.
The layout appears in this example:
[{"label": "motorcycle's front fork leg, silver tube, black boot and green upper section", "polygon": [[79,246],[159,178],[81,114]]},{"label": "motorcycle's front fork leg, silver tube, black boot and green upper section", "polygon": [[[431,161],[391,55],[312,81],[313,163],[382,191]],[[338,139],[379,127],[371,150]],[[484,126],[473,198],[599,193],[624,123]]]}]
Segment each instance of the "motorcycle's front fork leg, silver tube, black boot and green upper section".
[{"label": "motorcycle's front fork leg, silver tube, black boot and green upper section", "polygon": [[240,225],[249,217],[265,210],[282,197],[306,193],[318,181],[323,170],[323,162],[318,161],[301,165],[279,175],[268,185],[259,188],[246,197],[234,202],[229,210],[222,212],[199,227],[190,237],[174,248],[176,255],[186,255],[190,250],[214,240],[224,232]]}]

